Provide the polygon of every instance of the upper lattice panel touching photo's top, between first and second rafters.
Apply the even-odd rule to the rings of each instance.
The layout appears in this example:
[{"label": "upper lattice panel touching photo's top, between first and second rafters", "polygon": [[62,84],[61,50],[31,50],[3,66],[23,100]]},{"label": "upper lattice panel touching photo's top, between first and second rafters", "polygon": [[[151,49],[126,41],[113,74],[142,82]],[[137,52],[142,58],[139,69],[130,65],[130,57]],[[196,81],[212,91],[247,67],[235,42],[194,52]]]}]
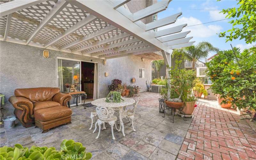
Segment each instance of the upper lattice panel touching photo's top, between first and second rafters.
[{"label": "upper lattice panel touching photo's top, between first and second rafters", "polygon": [[57,1],[45,1],[40,4],[33,5],[16,13],[22,14],[28,18],[41,21],[45,15],[52,9]]}]

